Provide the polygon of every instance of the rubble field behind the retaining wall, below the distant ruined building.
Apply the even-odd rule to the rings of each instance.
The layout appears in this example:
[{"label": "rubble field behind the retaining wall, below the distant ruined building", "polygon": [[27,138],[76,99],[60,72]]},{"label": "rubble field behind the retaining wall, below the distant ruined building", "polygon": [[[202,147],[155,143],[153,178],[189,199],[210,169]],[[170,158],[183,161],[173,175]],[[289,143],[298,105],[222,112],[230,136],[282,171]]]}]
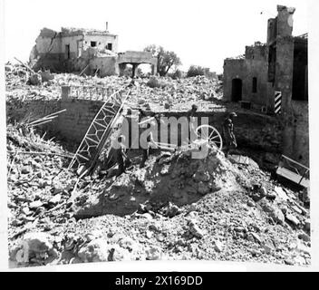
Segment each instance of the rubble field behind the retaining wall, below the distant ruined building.
[{"label": "rubble field behind the retaining wall, below the distant ruined building", "polygon": [[[61,97],[61,86],[102,86],[111,87],[118,91],[121,88],[130,88],[131,79],[128,77],[109,76],[98,78],[96,76],[79,76],[73,73],[39,72],[33,79],[39,82],[28,82],[29,74],[23,65],[6,64],[6,100],[58,100]],[[41,76],[41,78],[39,77]],[[221,102],[221,82],[209,80],[205,76],[173,80],[169,77],[152,77],[160,86],[151,88],[149,78],[137,78],[132,88],[133,93],[129,103],[131,107],[145,107],[150,103],[152,111],[188,111],[189,104],[197,103],[199,111],[209,111],[220,106],[214,101]],[[35,80],[35,81],[36,81]],[[101,96],[92,96],[92,100]],[[13,101],[14,102],[14,101]]]}]

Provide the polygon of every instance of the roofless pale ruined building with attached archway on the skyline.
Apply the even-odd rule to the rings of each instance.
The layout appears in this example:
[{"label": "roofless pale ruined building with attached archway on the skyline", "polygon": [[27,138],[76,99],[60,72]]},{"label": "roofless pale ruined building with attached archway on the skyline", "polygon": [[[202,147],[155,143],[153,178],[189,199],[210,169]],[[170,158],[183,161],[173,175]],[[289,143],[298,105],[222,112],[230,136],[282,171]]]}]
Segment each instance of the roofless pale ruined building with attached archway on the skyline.
[{"label": "roofless pale ruined building with attached archway on the skyline", "polygon": [[118,53],[118,35],[106,30],[62,28],[55,32],[43,28],[30,54],[34,71],[97,74],[101,77],[121,74],[131,64],[133,75],[141,63],[149,63],[156,72],[157,59],[151,53]]}]

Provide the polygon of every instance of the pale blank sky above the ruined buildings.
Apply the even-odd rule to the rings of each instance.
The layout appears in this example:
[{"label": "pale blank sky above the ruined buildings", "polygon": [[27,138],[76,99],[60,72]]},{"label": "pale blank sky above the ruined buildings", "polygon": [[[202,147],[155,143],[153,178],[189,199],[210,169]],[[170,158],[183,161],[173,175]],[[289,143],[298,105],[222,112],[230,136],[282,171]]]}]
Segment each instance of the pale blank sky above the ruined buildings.
[{"label": "pale blank sky above the ruined buildings", "polygon": [[[43,27],[105,29],[119,35],[119,51],[155,43],[178,54],[182,67],[222,73],[227,57],[266,42],[267,19],[276,5],[294,6],[294,35],[308,32],[302,0],[4,0],[5,61],[26,62]],[[263,12],[263,13],[262,13]],[[262,13],[262,14],[261,14]]]}]

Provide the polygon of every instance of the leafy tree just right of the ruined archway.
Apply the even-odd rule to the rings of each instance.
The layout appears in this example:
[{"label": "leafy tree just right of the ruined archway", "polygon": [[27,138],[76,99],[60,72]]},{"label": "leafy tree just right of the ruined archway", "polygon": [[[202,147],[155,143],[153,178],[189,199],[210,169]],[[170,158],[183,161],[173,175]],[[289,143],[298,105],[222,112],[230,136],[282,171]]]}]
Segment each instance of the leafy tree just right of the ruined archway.
[{"label": "leafy tree just right of the ruined archway", "polygon": [[150,52],[154,57],[158,59],[158,71],[160,76],[165,76],[169,73],[169,69],[175,65],[177,68],[181,62],[179,56],[174,52],[169,52],[164,50],[162,46],[157,46],[155,44],[151,44],[144,48],[144,52]]}]

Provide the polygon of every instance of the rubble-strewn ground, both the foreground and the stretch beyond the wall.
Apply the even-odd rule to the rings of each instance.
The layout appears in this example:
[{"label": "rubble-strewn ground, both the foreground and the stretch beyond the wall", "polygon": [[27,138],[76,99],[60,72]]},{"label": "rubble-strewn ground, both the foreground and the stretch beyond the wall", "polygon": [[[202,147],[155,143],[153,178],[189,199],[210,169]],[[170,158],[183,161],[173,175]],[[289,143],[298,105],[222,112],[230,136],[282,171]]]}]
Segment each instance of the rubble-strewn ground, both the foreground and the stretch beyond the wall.
[{"label": "rubble-strewn ground, both the foreground and the stretch beyond the wall", "polygon": [[[57,98],[62,82],[119,88],[130,82],[56,74],[31,86],[20,70],[25,73],[21,66],[6,69],[7,104]],[[150,107],[168,102],[167,108],[184,111],[190,101],[218,107],[218,83],[205,78],[161,79],[170,85],[154,89],[147,82],[139,81],[140,100]],[[169,102],[179,91],[179,101]],[[67,169],[72,152],[24,124],[8,124],[10,265],[145,259],[310,265],[306,192],[285,188],[246,157],[210,150],[206,159],[193,160],[189,153],[157,151],[140,169],[139,152],[131,152],[133,165],[119,178],[79,180]]]}]

